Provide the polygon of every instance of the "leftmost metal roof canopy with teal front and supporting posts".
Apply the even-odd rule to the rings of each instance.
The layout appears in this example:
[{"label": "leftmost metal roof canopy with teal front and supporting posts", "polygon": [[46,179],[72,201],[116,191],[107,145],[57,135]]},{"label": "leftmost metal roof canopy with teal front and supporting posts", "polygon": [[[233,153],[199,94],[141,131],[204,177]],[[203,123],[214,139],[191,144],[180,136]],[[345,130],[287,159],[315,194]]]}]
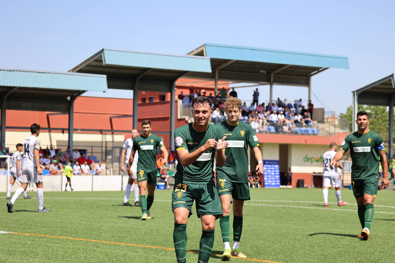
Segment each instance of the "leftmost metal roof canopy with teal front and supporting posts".
[{"label": "leftmost metal roof canopy with teal front and supporting posts", "polygon": [[1,145],[6,143],[6,110],[69,113],[69,145],[73,147],[73,105],[85,91],[107,91],[105,75],[0,69]]}]

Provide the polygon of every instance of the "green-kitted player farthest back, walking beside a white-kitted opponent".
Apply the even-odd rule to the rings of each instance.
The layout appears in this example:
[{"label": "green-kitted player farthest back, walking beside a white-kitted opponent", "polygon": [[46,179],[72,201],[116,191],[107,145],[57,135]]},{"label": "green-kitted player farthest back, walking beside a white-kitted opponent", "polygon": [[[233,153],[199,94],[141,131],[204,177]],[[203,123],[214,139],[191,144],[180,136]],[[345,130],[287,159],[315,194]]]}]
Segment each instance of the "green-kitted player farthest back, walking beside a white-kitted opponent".
[{"label": "green-kitted player farthest back, walking beside a white-kitted opponent", "polygon": [[[132,153],[129,157],[128,173],[131,175],[131,166],[133,164],[133,158],[138,151],[139,160],[137,161],[137,185],[140,189],[140,207],[143,216],[141,220],[147,220],[151,218],[150,208],[154,202],[154,191],[156,187],[156,151],[160,148],[163,153],[163,162],[167,162],[167,150],[162,142],[162,139],[155,134],[151,133],[151,121],[145,120],[141,123],[143,134],[136,137],[133,141]],[[145,193],[148,188],[148,196],[145,197]]]}]

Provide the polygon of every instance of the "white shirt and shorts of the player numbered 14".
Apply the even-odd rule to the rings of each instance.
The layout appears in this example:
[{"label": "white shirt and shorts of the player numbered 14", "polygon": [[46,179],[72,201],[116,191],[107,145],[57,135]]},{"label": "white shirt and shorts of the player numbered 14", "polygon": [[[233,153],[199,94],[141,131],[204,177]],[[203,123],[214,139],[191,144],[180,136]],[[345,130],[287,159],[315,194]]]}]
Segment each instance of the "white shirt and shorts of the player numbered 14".
[{"label": "white shirt and shorts of the player numbered 14", "polygon": [[40,151],[40,140],[36,136],[30,135],[23,144],[21,183],[39,183],[43,181],[43,175],[37,173],[34,149]]}]

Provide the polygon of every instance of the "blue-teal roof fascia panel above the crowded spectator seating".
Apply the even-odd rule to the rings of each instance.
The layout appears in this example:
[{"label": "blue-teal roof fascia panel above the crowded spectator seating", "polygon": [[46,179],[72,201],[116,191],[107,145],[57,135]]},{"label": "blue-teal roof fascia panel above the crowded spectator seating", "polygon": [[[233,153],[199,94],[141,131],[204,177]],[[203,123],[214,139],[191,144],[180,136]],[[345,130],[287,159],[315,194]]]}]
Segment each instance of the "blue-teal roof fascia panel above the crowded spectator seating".
[{"label": "blue-teal roof fascia panel above the crowded spectator seating", "polygon": [[206,56],[209,58],[241,60],[307,67],[327,67],[349,69],[346,56],[314,54],[267,48],[241,47],[220,44],[205,44]]}]

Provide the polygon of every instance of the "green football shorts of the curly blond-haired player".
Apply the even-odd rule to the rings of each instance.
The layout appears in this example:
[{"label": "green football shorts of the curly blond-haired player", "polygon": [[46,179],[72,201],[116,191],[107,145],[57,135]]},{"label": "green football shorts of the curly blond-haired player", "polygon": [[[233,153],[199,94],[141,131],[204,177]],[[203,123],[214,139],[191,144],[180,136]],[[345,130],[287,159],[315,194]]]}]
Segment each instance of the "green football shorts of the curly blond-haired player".
[{"label": "green football shorts of the curly blond-haired player", "polygon": [[231,194],[233,199],[250,200],[250,187],[248,183],[235,183],[229,179],[217,179],[218,195]]}]

